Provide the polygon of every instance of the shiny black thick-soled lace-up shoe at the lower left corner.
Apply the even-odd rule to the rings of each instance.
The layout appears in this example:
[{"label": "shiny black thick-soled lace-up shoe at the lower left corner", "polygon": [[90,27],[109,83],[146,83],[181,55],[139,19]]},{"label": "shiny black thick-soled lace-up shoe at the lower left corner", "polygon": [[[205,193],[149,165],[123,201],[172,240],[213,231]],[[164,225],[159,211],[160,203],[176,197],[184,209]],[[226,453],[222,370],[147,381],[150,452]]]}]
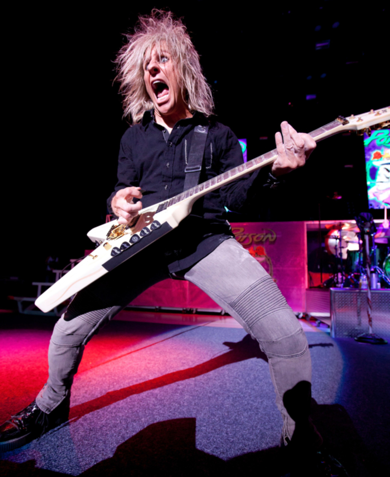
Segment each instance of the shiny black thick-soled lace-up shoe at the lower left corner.
[{"label": "shiny black thick-soled lace-up shoe at the lower left corner", "polygon": [[0,426],[0,452],[12,451],[28,444],[68,419],[69,398],[65,398],[50,414],[41,411],[33,401]]}]

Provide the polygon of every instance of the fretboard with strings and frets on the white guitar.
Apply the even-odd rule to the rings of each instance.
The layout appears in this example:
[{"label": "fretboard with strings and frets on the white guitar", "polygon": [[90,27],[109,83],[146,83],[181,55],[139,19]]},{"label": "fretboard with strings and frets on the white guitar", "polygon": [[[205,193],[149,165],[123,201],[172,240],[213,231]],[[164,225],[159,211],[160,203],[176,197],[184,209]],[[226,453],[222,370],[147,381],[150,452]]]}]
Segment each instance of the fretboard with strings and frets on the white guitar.
[{"label": "fretboard with strings and frets on the white guitar", "polygon": [[[312,138],[315,140],[319,136],[321,136],[324,133],[329,133],[332,129],[340,125],[340,121],[332,121],[329,124],[326,124],[325,126],[319,127],[318,129],[315,129],[314,131],[310,132],[309,135],[312,136]],[[253,172],[256,169],[259,169],[261,165],[270,159],[273,159],[274,157],[277,156],[277,150],[273,149],[270,152],[267,152],[266,154],[263,154],[261,156],[255,157],[251,161],[248,161],[246,163],[240,164],[237,167],[234,167],[234,169],[230,169],[223,174],[220,174],[218,176],[213,177],[212,179],[209,179],[206,182],[203,182],[202,184],[199,184],[198,186],[192,187],[191,189],[188,189],[184,192],[181,192],[180,194],[176,195],[175,197],[172,197],[172,199],[169,199],[165,202],[162,202],[159,204],[157,208],[157,212],[161,212],[162,210],[165,210],[167,207],[171,207],[178,202],[181,202],[183,200],[188,199],[189,197],[192,197],[194,195],[197,195],[199,193],[206,193],[208,189],[214,187],[215,185],[218,185],[221,183],[221,186],[223,183],[226,183],[227,180],[234,180],[234,177],[238,175],[242,175],[242,172],[246,171],[248,173]],[[229,181],[231,182],[231,181]],[[203,195],[203,194],[202,194]],[[147,209],[145,209],[147,210]]]}]

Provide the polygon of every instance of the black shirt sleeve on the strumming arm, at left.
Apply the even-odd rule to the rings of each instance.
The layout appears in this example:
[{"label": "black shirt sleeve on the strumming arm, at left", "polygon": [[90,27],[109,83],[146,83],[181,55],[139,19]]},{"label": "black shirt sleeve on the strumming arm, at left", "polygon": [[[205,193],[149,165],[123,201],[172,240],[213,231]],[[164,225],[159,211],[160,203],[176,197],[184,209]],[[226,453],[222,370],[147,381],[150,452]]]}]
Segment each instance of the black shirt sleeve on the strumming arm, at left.
[{"label": "black shirt sleeve on the strumming arm, at left", "polygon": [[[139,187],[138,174],[136,167],[133,162],[132,154],[132,133],[131,128],[122,136],[119,146],[119,158],[118,158],[118,170],[117,170],[117,185],[114,188],[114,191],[107,199],[107,208],[109,212],[113,215],[113,209],[111,208],[111,201],[117,193],[118,190],[124,189],[125,187]],[[135,199],[137,201],[137,199]]]}]

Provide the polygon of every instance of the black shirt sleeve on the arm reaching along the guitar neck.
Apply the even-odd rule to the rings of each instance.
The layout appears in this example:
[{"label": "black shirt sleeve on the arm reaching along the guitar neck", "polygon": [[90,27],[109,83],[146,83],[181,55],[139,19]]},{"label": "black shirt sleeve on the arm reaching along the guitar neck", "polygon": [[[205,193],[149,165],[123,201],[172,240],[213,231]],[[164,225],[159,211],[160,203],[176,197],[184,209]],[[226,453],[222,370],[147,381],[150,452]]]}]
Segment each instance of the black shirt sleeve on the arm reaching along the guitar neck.
[{"label": "black shirt sleeve on the arm reaching along the guitar neck", "polygon": [[[219,174],[243,164],[241,145],[230,128],[224,126],[216,135],[215,143],[219,156]],[[243,212],[247,207],[264,199],[269,193],[269,187],[264,187],[269,172],[270,168],[265,166],[221,187],[223,205],[234,212]]]}]

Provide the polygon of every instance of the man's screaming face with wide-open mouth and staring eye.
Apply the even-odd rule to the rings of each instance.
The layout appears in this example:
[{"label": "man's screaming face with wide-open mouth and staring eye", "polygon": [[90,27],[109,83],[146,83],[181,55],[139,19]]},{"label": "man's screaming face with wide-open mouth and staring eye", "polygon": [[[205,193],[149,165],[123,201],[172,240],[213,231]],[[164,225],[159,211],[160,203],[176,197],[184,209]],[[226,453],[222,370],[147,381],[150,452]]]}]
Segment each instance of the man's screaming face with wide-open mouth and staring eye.
[{"label": "man's screaming face with wide-open mouth and staring eye", "polygon": [[145,56],[143,78],[156,114],[180,119],[188,108],[178,84],[175,63],[163,45],[160,54],[154,46],[150,57]]}]

